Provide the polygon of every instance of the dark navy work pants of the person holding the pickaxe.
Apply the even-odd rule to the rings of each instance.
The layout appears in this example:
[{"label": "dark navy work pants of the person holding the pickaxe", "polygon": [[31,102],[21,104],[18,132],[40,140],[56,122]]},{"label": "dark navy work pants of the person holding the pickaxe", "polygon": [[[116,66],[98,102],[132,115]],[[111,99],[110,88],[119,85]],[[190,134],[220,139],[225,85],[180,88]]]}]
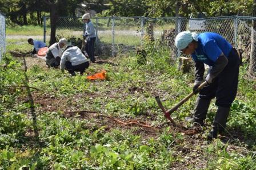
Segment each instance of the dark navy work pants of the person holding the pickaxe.
[{"label": "dark navy work pants of the person holding the pickaxe", "polygon": [[227,59],[226,67],[210,85],[206,85],[200,93],[202,99],[212,99],[216,97],[217,106],[230,107],[237,95],[238,74],[239,74],[239,56],[231,49]]}]

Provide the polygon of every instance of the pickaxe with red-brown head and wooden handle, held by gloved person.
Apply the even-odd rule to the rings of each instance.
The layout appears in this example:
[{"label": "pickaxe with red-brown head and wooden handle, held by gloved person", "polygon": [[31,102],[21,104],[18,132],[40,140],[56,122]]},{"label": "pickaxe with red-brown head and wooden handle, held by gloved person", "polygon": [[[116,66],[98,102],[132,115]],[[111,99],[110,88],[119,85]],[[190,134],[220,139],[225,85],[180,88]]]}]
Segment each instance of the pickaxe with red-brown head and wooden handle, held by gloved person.
[{"label": "pickaxe with red-brown head and wooden handle, held by gloved person", "polygon": [[[197,91],[199,92],[199,90],[201,90],[205,85],[207,84],[207,82],[203,82],[198,88]],[[179,106],[183,105],[183,103],[185,103],[187,100],[189,100],[195,93],[191,92],[189,95],[187,95],[185,98],[183,98],[180,102],[178,102],[173,108],[166,110],[165,107],[163,107],[162,102],[159,98],[159,96],[155,97],[155,100],[158,103],[158,106],[161,108],[161,110],[163,111],[163,113],[165,114],[165,117],[167,119],[169,119],[169,121],[171,121],[171,123],[173,123],[174,126],[177,126],[177,124],[174,122],[174,120],[170,117],[171,113],[173,113],[175,110],[177,110],[179,108]]]}]

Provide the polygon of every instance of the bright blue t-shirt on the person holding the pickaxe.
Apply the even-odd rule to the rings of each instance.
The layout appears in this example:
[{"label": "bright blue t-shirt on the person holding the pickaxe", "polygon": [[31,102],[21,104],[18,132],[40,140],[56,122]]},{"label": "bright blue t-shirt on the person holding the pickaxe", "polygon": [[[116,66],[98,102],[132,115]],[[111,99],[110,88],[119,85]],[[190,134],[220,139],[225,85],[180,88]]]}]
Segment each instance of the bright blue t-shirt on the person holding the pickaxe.
[{"label": "bright blue t-shirt on the person holding the pickaxe", "polygon": [[198,47],[191,54],[194,61],[214,66],[218,57],[223,54],[228,57],[232,45],[227,42],[221,35],[214,32],[204,32],[198,35]]}]

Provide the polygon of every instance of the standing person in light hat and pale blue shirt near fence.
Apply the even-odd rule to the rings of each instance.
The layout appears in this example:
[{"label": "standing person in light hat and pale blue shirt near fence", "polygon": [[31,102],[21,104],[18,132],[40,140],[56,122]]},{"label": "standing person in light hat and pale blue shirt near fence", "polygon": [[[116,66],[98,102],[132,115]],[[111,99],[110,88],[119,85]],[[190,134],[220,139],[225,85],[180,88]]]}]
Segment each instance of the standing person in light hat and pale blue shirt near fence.
[{"label": "standing person in light hat and pale blue shirt near fence", "polygon": [[86,39],[86,47],[85,51],[90,57],[91,62],[95,63],[95,57],[94,57],[94,43],[96,40],[96,34],[95,29],[93,26],[93,23],[90,19],[90,14],[86,13],[82,16],[83,23],[85,23],[85,26],[83,27],[83,38]]}]

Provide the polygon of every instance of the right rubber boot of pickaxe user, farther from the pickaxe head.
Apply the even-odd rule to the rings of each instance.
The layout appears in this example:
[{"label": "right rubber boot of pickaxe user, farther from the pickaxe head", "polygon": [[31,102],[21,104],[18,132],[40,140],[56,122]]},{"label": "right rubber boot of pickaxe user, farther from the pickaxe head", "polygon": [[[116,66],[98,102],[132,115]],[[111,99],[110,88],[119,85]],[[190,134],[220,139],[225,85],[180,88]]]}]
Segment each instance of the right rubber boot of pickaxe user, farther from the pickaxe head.
[{"label": "right rubber boot of pickaxe user, farther from the pickaxe head", "polygon": [[218,110],[213,122],[213,128],[207,135],[207,140],[216,139],[218,137],[218,134],[221,134],[225,130],[229,111],[230,107],[218,106]]}]

